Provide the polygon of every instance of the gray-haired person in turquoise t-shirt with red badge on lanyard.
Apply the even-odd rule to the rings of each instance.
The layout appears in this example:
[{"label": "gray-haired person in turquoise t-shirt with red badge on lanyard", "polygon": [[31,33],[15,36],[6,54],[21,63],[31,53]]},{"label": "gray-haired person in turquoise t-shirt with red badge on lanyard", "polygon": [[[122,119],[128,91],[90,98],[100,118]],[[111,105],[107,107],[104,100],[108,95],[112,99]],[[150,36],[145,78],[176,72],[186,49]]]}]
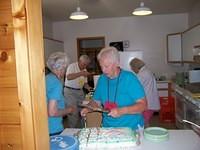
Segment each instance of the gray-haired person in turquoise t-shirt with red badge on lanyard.
[{"label": "gray-haired person in turquoise t-shirt with red badge on lanyard", "polygon": [[[94,92],[94,101],[90,105],[107,109],[103,113],[103,127],[130,127],[137,129],[143,126],[142,112],[146,109],[144,89],[132,72],[119,66],[119,53],[114,47],[107,47],[97,56],[103,74],[99,77]],[[84,108],[85,116],[89,109]]]}]

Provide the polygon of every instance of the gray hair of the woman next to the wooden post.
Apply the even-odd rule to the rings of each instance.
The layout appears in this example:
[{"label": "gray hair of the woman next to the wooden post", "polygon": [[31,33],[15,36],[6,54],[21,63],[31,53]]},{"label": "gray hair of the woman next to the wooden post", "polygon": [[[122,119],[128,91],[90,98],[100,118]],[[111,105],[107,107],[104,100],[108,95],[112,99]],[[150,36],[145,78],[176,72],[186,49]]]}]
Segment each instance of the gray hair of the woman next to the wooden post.
[{"label": "gray hair of the woman next to the wooden post", "polygon": [[53,70],[62,70],[69,65],[69,58],[64,52],[54,52],[47,60],[47,67]]}]

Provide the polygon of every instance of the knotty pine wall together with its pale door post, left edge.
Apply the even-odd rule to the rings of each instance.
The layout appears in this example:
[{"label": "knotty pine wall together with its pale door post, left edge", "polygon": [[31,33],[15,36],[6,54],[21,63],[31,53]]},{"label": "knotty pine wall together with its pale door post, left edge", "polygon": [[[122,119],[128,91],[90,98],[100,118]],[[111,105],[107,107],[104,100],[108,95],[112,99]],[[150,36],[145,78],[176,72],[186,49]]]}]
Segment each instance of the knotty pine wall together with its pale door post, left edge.
[{"label": "knotty pine wall together with its pale door post, left edge", "polygon": [[1,0],[0,150],[49,149],[44,74],[41,1]]}]

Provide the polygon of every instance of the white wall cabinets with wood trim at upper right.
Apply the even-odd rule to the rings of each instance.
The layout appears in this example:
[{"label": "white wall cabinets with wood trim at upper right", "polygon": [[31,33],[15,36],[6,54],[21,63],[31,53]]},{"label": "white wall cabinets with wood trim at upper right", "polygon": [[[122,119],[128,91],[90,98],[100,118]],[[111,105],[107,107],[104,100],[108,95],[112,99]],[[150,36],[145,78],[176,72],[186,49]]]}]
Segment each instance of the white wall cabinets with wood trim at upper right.
[{"label": "white wall cabinets with wood trim at upper right", "polygon": [[200,24],[167,35],[168,63],[199,63]]}]

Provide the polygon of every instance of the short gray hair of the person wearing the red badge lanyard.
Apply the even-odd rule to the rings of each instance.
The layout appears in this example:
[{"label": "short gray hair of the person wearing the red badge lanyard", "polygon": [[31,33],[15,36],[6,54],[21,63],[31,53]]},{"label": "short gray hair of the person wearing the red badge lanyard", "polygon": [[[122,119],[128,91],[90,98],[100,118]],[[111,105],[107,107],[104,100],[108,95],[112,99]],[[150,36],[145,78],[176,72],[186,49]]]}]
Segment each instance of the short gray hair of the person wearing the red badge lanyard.
[{"label": "short gray hair of the person wearing the red badge lanyard", "polygon": [[111,62],[116,63],[117,65],[119,65],[120,62],[119,52],[115,47],[103,48],[97,55],[98,61],[100,61],[102,58],[109,59]]}]

